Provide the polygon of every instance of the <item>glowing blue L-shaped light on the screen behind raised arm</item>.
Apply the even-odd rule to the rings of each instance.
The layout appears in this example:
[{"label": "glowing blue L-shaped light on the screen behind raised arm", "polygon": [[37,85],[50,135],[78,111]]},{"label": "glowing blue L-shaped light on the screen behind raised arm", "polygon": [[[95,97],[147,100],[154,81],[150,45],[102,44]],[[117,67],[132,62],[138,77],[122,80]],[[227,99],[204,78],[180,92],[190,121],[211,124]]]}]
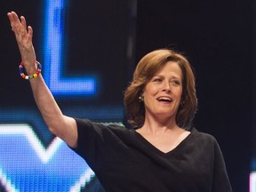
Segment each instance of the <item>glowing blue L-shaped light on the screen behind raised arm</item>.
[{"label": "glowing blue L-shaped light on the screen behind raised arm", "polygon": [[63,76],[65,0],[45,1],[44,78],[55,96],[90,95],[97,93],[95,76]]}]

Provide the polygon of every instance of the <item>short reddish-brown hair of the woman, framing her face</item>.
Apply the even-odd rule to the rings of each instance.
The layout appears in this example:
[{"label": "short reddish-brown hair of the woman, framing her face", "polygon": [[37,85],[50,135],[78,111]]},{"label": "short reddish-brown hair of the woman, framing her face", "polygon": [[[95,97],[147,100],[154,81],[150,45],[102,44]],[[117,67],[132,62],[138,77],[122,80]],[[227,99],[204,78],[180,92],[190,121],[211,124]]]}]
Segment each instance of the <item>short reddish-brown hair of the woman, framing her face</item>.
[{"label": "short reddish-brown hair of the woman, framing her face", "polygon": [[132,127],[141,127],[144,124],[145,107],[139,98],[146,84],[168,61],[177,62],[182,71],[183,90],[176,122],[184,129],[191,128],[197,109],[195,76],[186,57],[169,49],[149,52],[135,68],[132,83],[124,92],[126,116]]}]

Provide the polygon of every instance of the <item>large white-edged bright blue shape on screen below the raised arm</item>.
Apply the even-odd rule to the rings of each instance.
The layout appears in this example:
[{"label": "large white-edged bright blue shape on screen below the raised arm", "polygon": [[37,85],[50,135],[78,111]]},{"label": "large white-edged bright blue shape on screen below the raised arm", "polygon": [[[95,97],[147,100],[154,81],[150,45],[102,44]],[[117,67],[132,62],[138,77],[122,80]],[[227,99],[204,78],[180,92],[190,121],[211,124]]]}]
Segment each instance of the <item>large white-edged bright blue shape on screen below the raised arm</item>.
[{"label": "large white-edged bright blue shape on screen below the raised arm", "polygon": [[0,142],[0,183],[6,191],[80,191],[94,177],[66,143],[56,137],[44,148],[28,124],[0,124]]}]

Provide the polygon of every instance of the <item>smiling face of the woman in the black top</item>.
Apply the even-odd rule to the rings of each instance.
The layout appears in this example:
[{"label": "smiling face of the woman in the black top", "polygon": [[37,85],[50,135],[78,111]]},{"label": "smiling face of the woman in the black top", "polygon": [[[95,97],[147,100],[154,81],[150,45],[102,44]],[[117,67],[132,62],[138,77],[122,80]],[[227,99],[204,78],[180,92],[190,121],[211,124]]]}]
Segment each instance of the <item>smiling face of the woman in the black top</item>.
[{"label": "smiling face of the woman in the black top", "polygon": [[175,119],[182,94],[182,72],[174,61],[168,61],[150,79],[142,93],[145,117]]}]

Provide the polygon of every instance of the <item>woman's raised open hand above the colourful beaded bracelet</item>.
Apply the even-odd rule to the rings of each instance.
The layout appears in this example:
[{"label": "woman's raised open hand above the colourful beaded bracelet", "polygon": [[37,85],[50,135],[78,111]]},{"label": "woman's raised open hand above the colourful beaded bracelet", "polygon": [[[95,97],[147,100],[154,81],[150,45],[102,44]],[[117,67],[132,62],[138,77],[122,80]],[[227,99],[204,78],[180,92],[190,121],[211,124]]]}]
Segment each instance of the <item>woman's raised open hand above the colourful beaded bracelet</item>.
[{"label": "woman's raised open hand above the colourful beaded bracelet", "polygon": [[30,26],[27,28],[25,17],[21,16],[19,19],[16,12],[8,12],[7,15],[20,49],[24,67],[28,75],[34,74],[36,71],[36,53],[32,43],[33,29]]}]

